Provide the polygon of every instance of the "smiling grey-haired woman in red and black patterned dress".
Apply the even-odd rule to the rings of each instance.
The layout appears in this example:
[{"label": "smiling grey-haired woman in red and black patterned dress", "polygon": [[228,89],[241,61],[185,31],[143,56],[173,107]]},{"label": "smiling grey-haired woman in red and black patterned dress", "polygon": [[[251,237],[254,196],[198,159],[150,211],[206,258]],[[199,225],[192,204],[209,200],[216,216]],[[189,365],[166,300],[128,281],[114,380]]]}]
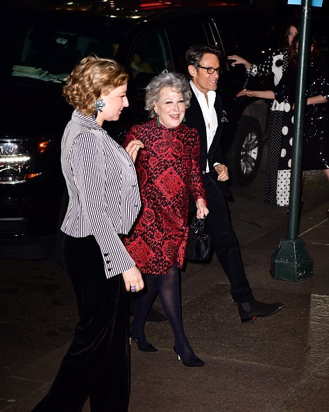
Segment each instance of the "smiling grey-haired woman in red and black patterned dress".
[{"label": "smiling grey-haired woman in red and black patterned dress", "polygon": [[157,351],[146,341],[144,323],[159,293],[174,331],[178,359],[183,359],[185,366],[203,366],[183,330],[178,275],[187,243],[190,194],[196,201],[197,218],[208,214],[199,166],[199,135],[183,123],[190,98],[189,83],[181,74],[160,74],[146,88],[146,110],[151,120],[133,126],[124,142],[126,145],[139,139],[144,144],[136,162],[142,214],[124,244],[145,284],[144,292],[137,297],[130,337],[140,350]]}]

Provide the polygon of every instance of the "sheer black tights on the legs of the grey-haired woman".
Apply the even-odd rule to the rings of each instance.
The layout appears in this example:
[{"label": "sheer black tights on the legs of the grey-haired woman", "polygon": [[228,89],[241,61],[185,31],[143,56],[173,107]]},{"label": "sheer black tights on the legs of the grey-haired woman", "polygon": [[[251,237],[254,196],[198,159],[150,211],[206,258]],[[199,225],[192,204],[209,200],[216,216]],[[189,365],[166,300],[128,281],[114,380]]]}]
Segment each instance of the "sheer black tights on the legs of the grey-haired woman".
[{"label": "sheer black tights on the legs of the grey-haired woman", "polygon": [[175,345],[180,357],[185,361],[192,361],[196,357],[185,335],[180,309],[180,289],[178,267],[171,266],[165,275],[143,274],[144,290],[136,297],[136,313],[131,323],[133,336],[141,346],[146,345],[144,324],[146,316],[159,293],[162,309],[169,320],[175,335]]}]

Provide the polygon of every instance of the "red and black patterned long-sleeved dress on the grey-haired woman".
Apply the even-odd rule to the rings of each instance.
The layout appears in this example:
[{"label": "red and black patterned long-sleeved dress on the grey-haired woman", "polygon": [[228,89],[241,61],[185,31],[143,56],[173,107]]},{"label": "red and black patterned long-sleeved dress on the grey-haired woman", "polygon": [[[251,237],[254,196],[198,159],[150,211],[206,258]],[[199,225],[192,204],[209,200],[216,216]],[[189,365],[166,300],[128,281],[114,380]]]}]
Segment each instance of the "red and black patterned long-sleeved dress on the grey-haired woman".
[{"label": "red and black patterned long-sleeved dress on the grey-haired woman", "polygon": [[205,199],[200,170],[200,139],[196,129],[158,126],[156,119],[128,132],[144,143],[135,163],[142,212],[124,245],[142,273],[165,274],[183,266],[188,234],[189,194]]}]

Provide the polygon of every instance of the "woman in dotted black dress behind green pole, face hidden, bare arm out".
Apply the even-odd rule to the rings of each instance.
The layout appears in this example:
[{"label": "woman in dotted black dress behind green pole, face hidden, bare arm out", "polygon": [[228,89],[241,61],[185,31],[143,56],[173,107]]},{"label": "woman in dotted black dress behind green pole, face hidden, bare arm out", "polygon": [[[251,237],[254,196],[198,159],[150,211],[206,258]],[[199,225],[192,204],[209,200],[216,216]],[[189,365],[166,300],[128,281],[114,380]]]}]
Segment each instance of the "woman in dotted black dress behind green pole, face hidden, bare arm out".
[{"label": "woman in dotted black dress behind green pole, face hidden, bare arm out", "polygon": [[[244,89],[237,96],[274,98],[269,123],[269,147],[271,155],[267,161],[267,183],[265,195],[268,203],[289,205],[290,168],[292,163],[292,135],[294,123],[294,96],[296,86],[296,65],[298,35],[294,37],[289,56],[289,68],[273,91]],[[310,68],[307,76],[307,101],[303,137],[303,171],[322,170],[329,181],[329,77],[328,68],[319,55],[317,40],[312,37]],[[279,103],[280,102],[280,103]],[[279,117],[276,118],[276,112]],[[271,121],[273,120],[273,123]],[[281,121],[281,123],[280,123]],[[276,123],[275,123],[276,122]],[[275,150],[273,150],[275,149]],[[276,153],[277,157],[273,154]],[[277,166],[277,167],[276,167]],[[274,188],[276,189],[274,198]],[[275,200],[275,201],[273,201]]]}]

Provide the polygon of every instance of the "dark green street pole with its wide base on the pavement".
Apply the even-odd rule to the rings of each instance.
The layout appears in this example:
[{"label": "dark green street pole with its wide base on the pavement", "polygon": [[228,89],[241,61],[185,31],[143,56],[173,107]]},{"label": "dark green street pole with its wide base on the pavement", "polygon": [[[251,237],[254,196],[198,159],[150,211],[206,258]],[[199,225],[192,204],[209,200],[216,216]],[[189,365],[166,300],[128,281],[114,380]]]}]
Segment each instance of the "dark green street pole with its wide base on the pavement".
[{"label": "dark green street pole with its wide base on the pavement", "polygon": [[271,275],[277,280],[299,281],[313,277],[313,259],[305,242],[298,237],[301,198],[301,159],[303,149],[306,81],[310,54],[310,12],[312,0],[302,0],[298,41],[292,174],[289,195],[288,237],[281,239],[271,255]]}]

